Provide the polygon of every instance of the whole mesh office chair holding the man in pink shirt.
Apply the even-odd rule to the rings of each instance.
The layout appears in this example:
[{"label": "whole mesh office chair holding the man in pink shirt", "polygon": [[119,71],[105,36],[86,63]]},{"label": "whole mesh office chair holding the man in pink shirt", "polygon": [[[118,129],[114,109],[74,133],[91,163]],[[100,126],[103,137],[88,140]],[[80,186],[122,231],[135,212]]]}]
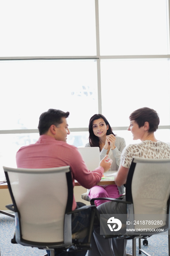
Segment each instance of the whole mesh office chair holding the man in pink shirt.
[{"label": "whole mesh office chair holding the man in pink shirt", "polygon": [[[25,246],[59,251],[87,250],[93,232],[96,207],[83,206],[72,211],[73,184],[69,166],[50,169],[3,167],[15,212],[15,240]],[[90,225],[72,235],[72,214],[91,208]],[[78,239],[86,237],[88,241]]]}]

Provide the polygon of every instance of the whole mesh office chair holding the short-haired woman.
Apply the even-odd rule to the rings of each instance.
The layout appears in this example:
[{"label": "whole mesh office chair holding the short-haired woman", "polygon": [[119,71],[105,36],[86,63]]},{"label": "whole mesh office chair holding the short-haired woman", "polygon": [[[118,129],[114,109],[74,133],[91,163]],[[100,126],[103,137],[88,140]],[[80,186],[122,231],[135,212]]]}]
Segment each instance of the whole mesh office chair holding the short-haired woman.
[{"label": "whole mesh office chair holding the short-haired woman", "polygon": [[[90,203],[94,204],[94,200],[96,199],[91,199]],[[135,218],[142,214],[147,214],[151,217],[153,216],[153,219],[154,216],[157,217],[156,215],[161,215],[163,222],[156,227],[164,229],[164,232],[168,230],[170,255],[170,159],[134,158],[127,177],[125,199],[126,201],[109,198],[110,201],[126,204],[127,221],[128,218],[132,216]],[[129,233],[126,231],[126,227],[128,228],[126,223],[123,225],[125,228],[124,233],[121,236],[117,236],[113,231],[113,235],[105,235],[104,238],[114,237],[115,239],[133,239],[132,256],[136,256],[136,238],[139,238],[139,254],[143,252],[150,256],[141,249],[140,238],[146,238],[151,235],[158,234],[160,231],[134,231]],[[136,226],[134,225],[134,228],[135,227]],[[151,225],[151,223],[147,226],[140,225],[139,223],[136,228],[141,230],[144,229],[144,227],[145,229],[155,229],[155,225]],[[131,256],[131,254],[127,253],[127,256]]]}]

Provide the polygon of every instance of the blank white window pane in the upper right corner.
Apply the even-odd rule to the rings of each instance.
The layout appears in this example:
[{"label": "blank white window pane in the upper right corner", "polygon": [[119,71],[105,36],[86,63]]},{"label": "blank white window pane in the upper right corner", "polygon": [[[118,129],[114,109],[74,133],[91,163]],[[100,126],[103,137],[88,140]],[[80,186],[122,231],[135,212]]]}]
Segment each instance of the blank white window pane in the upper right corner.
[{"label": "blank white window pane in the upper right corner", "polygon": [[101,55],[167,54],[166,0],[99,0]]}]

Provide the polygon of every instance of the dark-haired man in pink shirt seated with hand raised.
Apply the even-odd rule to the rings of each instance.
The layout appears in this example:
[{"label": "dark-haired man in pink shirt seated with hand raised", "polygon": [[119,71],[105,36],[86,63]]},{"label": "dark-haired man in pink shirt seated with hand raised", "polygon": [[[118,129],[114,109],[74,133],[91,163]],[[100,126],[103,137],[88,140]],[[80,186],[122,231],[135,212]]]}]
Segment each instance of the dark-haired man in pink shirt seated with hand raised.
[{"label": "dark-haired man in pink shirt seated with hand raised", "polygon": [[[78,149],[66,143],[67,135],[70,134],[66,119],[68,116],[69,112],[57,109],[49,109],[42,113],[39,118],[40,137],[38,141],[19,149],[16,154],[16,164],[19,168],[51,168],[69,165],[72,170],[73,187],[75,179],[83,187],[92,188],[101,180],[103,173],[109,170],[112,160],[105,156],[99,166],[90,172]],[[80,202],[76,203],[73,198],[72,210],[83,205]],[[88,226],[89,214],[89,211],[74,214],[72,217],[73,232]],[[86,252],[78,252],[81,256],[85,254]],[[55,252],[55,255],[59,254]],[[69,255],[77,255],[77,253],[69,253]]]}]

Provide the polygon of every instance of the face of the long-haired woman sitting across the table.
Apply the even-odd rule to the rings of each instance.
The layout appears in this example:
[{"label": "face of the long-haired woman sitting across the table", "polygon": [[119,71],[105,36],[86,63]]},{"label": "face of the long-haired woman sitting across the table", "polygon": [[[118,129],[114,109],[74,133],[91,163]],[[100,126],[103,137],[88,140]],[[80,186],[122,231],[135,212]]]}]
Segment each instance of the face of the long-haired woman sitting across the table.
[{"label": "face of the long-haired woman sitting across the table", "polygon": [[99,118],[93,121],[93,133],[97,137],[103,137],[106,135],[109,125],[106,125],[103,118]]}]

